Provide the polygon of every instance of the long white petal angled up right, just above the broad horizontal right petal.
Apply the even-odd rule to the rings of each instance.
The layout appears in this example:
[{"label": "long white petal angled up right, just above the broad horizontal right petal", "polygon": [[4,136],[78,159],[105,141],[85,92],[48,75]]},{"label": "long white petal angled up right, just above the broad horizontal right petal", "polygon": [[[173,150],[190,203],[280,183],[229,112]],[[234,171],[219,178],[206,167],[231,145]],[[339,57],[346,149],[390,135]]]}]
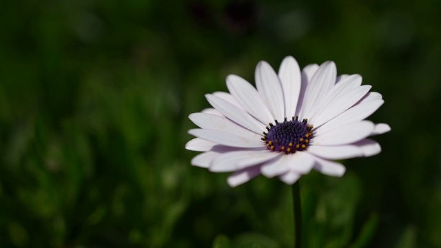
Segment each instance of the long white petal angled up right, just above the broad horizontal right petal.
[{"label": "long white petal angled up right, just above the broad horizontal right petal", "polygon": [[357,121],[362,121],[369,117],[373,112],[376,112],[378,108],[384,103],[382,99],[367,101],[365,103],[360,103],[351,107],[349,110],[342,112],[336,118],[323,124],[320,127],[320,132],[326,132],[332,128],[338,127],[340,125],[345,125],[347,123],[353,123]]}]

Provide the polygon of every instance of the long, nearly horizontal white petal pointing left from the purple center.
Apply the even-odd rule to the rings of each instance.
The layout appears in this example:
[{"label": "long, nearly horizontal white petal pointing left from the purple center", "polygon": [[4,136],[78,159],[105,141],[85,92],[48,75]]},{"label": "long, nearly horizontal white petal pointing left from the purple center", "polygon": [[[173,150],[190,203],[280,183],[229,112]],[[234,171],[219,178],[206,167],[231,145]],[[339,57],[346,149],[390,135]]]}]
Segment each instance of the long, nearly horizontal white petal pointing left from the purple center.
[{"label": "long, nearly horizontal white petal pointing left from the purple center", "polygon": [[234,135],[225,132],[219,132],[216,130],[203,130],[203,129],[188,130],[188,133],[198,138],[203,138],[207,141],[212,141],[220,145],[227,145],[229,147],[253,148],[253,147],[265,146],[265,144],[263,144],[263,141],[245,138],[239,136],[240,134]]}]

